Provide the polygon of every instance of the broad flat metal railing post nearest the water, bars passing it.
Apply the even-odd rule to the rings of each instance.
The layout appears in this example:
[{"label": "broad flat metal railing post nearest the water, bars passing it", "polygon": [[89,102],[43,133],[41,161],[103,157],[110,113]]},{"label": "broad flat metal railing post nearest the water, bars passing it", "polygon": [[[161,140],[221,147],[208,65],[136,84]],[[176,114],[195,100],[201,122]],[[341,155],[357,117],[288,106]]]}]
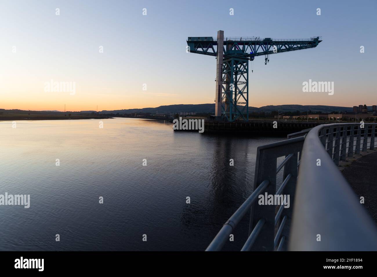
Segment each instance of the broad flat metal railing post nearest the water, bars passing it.
[{"label": "broad flat metal railing post nearest the water, bars passing it", "polygon": [[[268,180],[270,184],[262,193],[274,195],[276,192],[276,156],[273,149],[257,149],[254,190],[264,181]],[[297,170],[297,169],[296,169]],[[261,194],[262,194],[261,193]],[[274,233],[275,233],[275,205],[259,205],[258,200],[251,206],[249,236],[253,231],[259,219],[264,218],[264,223],[258,239],[254,242],[251,251],[274,251]]]}]

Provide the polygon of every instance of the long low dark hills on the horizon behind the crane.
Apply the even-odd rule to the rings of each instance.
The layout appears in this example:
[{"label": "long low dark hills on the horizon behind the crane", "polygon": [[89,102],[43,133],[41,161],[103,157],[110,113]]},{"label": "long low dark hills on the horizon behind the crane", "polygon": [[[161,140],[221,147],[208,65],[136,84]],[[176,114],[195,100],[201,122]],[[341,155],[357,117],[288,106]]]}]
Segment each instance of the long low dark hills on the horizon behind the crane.
[{"label": "long low dark hills on the horizon behind the crane", "polygon": [[[372,110],[372,107],[368,107]],[[338,106],[322,106],[322,105],[278,105],[278,106],[263,106],[263,107],[249,107],[250,112],[322,112],[329,113],[333,111],[352,112],[353,107],[338,107]],[[82,111],[83,112],[83,111]],[[90,111],[86,111],[90,112]],[[215,104],[178,104],[159,106],[155,108],[142,108],[142,109],[124,109],[124,110],[103,110],[100,113],[179,113],[179,112],[196,112],[196,113],[215,113]]]}]

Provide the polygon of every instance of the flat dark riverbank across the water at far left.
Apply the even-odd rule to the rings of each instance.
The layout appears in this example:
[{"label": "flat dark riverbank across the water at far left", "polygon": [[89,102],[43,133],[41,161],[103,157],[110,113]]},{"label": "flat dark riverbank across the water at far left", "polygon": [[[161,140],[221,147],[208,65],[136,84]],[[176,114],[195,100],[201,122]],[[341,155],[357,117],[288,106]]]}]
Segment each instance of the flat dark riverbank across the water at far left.
[{"label": "flat dark riverbank across the water at far left", "polygon": [[25,115],[25,114],[11,114],[0,115],[0,121],[16,121],[16,120],[64,120],[64,119],[107,119],[113,118],[109,116],[90,116],[90,115]]}]

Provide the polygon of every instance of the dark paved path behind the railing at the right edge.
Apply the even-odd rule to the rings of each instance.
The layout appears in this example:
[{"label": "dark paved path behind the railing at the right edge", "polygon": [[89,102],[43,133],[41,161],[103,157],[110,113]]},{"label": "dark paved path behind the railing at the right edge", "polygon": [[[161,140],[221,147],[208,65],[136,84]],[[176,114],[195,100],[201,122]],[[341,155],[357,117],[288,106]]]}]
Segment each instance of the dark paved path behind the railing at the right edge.
[{"label": "dark paved path behind the railing at the right edge", "polygon": [[342,171],[343,176],[359,196],[377,225],[377,152],[363,156]]}]

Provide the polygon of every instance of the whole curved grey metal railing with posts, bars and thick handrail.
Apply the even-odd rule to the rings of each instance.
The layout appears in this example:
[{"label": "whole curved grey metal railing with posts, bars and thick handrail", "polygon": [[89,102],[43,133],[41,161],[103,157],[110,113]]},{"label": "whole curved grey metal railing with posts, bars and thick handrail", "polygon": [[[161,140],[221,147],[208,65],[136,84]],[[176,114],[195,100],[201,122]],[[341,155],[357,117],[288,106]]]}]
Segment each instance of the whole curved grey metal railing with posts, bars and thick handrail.
[{"label": "whole curved grey metal railing with posts, bars and thick handrail", "polygon": [[[258,147],[253,193],[206,251],[221,250],[250,209],[249,236],[241,251],[377,250],[375,225],[336,166],[346,156],[373,150],[376,126],[322,124]],[[290,196],[289,207],[259,205],[257,199],[265,193]]]}]

